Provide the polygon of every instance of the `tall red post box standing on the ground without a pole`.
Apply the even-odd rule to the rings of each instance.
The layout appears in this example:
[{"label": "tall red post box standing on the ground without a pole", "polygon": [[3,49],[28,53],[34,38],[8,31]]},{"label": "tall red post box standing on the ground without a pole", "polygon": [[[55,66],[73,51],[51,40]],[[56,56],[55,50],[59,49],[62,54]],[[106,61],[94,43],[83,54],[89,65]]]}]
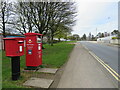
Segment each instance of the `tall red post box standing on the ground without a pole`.
[{"label": "tall red post box standing on the ground without a pole", "polygon": [[42,34],[26,33],[26,66],[38,67],[42,65]]}]

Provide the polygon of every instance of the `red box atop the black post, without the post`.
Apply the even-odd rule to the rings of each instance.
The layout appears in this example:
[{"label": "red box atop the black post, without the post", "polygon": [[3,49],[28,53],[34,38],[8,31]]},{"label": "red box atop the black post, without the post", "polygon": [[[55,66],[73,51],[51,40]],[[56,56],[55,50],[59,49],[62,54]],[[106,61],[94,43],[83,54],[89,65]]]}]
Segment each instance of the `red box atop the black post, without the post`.
[{"label": "red box atop the black post, without the post", "polygon": [[6,56],[16,57],[24,55],[24,38],[4,38]]}]

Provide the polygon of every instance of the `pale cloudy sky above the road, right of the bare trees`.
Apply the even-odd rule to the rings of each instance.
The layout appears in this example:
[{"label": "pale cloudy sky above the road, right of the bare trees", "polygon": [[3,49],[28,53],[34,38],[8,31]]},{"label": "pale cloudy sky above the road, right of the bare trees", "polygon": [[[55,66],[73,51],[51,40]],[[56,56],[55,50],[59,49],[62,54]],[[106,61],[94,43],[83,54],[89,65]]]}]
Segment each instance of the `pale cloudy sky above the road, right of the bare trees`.
[{"label": "pale cloudy sky above the road, right of the bare trees", "polygon": [[72,34],[90,32],[111,32],[118,29],[118,1],[119,0],[74,0],[76,2],[76,25]]}]

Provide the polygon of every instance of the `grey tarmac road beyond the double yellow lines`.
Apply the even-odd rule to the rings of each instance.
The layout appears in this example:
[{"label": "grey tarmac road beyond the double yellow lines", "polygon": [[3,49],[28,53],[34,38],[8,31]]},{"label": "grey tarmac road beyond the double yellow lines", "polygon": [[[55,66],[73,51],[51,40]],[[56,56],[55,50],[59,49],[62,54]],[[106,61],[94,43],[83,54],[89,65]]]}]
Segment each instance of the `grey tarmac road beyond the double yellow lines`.
[{"label": "grey tarmac road beyond the double yellow lines", "polygon": [[87,41],[81,41],[85,47],[87,47],[91,52],[96,54],[100,59],[102,59],[106,64],[108,64],[113,70],[118,72],[118,48],[101,45],[98,43],[90,43]]}]

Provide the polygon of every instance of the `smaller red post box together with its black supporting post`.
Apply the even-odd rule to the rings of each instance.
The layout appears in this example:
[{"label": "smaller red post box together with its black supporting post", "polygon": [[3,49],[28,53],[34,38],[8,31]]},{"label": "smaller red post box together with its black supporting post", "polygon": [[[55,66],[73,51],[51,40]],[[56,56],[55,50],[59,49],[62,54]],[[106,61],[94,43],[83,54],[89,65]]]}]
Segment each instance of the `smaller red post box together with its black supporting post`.
[{"label": "smaller red post box together with its black supporting post", "polygon": [[24,55],[24,38],[4,38],[6,56],[11,57],[12,80],[20,77],[20,56]]}]

